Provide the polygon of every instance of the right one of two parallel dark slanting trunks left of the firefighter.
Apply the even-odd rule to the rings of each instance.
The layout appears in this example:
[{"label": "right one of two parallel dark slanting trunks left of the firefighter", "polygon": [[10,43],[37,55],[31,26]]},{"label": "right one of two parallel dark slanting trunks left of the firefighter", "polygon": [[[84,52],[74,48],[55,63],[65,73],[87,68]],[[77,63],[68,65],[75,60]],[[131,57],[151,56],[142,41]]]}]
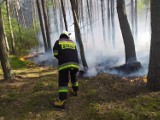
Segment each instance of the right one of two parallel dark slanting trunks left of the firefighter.
[{"label": "right one of two parallel dark slanting trunks left of the firefighter", "polygon": [[48,44],[48,51],[51,51],[51,39],[50,39],[50,32],[49,32],[49,27],[48,27],[48,17],[46,14],[46,8],[45,8],[45,1],[42,1],[42,10],[43,10],[43,16],[44,16],[44,23],[45,23],[45,28],[46,28],[46,38],[47,38],[47,44]]}]

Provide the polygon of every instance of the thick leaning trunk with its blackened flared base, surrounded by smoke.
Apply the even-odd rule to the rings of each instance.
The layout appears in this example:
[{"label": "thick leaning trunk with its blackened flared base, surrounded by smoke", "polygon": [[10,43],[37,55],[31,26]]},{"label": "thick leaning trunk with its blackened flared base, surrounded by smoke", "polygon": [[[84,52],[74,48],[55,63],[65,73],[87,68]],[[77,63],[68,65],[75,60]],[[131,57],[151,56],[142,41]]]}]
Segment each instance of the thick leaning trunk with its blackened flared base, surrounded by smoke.
[{"label": "thick leaning trunk with its blackened flared base, surrounded by smoke", "polygon": [[124,0],[117,0],[117,12],[124,41],[126,63],[122,66],[111,69],[130,74],[141,69],[142,65],[137,61],[134,40],[128,23]]}]

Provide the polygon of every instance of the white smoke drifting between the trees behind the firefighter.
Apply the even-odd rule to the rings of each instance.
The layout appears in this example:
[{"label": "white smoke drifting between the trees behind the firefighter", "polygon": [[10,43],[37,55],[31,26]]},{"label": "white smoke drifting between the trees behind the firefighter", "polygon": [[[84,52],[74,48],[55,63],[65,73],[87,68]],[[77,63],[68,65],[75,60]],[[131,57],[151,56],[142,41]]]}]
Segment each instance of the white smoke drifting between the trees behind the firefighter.
[{"label": "white smoke drifting between the trees behind the firefighter", "polygon": [[[129,8],[128,8],[129,9]],[[129,11],[127,9],[127,11]],[[57,11],[59,9],[57,8]],[[115,7],[116,11],[116,7]],[[99,16],[95,21],[92,23],[93,34],[91,33],[91,29],[87,24],[87,21],[84,21],[86,25],[81,24],[81,35],[85,50],[85,56],[88,63],[88,72],[86,76],[96,76],[99,72],[106,72],[111,74],[116,74],[120,76],[126,76],[123,73],[117,71],[110,71],[109,68],[120,66],[125,63],[125,51],[124,51],[124,43],[122,34],[119,27],[119,21],[117,13],[115,12],[115,45],[113,45],[112,40],[104,40],[103,38],[103,29],[102,29],[102,21],[101,21],[101,11],[99,10]],[[107,14],[107,11],[104,11]],[[59,12],[58,12],[59,13]],[[145,11],[144,11],[145,13]],[[58,23],[58,29],[55,24],[55,16],[53,16],[53,11],[50,12],[51,17],[51,42],[52,46],[54,45],[55,41],[59,38],[61,32],[65,29],[60,28],[60,22]],[[84,14],[86,15],[86,14]],[[129,12],[127,13],[128,20],[130,22],[130,15]],[[138,71],[136,73],[130,74],[129,76],[143,76],[146,75],[148,72],[148,61],[149,61],[149,47],[150,47],[150,19],[145,20],[146,17],[139,14],[138,16],[138,37],[135,40],[135,47],[137,53],[137,59],[141,62],[142,66],[144,67],[145,71]],[[68,20],[68,27],[69,32],[72,33],[72,39],[75,40],[75,31],[73,26],[73,18],[72,12],[70,11],[70,6],[66,10],[66,16]],[[147,14],[148,18],[150,18],[150,13]],[[99,18],[100,17],[100,18]],[[59,18],[57,18],[59,20]],[[84,20],[88,19],[86,15]],[[105,19],[107,21],[107,19]],[[107,23],[106,23],[107,24]],[[64,26],[64,25],[63,25]],[[108,36],[108,31],[105,31],[106,38]],[[43,43],[42,36],[39,35],[40,43]],[[93,42],[93,40],[95,40]],[[94,46],[95,43],[95,46]],[[44,49],[40,47],[39,51],[43,51]],[[48,54],[39,58],[39,60],[46,60],[51,59],[47,57]],[[54,57],[53,57],[54,58]],[[56,60],[55,58],[53,60]],[[81,65],[82,66],[82,65]],[[83,68],[82,68],[83,69]]]}]

